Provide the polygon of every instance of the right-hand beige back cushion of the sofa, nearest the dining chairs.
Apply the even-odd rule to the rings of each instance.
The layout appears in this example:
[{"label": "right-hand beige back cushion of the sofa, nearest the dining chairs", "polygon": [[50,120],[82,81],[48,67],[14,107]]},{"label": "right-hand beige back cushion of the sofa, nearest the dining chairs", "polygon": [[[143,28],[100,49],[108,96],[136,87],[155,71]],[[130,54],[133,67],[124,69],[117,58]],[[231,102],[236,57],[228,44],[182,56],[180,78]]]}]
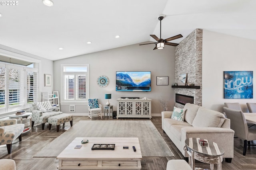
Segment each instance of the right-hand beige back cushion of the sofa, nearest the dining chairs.
[{"label": "right-hand beige back cushion of the sofa, nearest the dining chairs", "polygon": [[221,127],[225,120],[224,114],[200,107],[192,125],[194,127]]}]

